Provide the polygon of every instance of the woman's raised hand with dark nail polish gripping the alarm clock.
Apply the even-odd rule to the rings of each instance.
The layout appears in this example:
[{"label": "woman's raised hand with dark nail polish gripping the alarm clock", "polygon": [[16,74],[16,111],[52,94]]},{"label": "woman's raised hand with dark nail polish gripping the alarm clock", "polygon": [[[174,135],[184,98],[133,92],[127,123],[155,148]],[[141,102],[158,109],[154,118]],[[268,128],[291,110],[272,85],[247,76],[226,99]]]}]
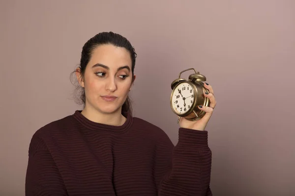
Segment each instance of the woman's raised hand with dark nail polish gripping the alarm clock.
[{"label": "woman's raised hand with dark nail polish gripping the alarm clock", "polygon": [[210,92],[208,95],[204,93],[204,96],[209,98],[210,105],[209,105],[209,107],[206,107],[203,105],[202,105],[202,107],[200,107],[200,106],[198,106],[198,107],[200,110],[205,111],[206,114],[204,115],[203,118],[201,118],[200,120],[197,120],[197,121],[189,121],[189,120],[186,120],[185,118],[181,117],[180,121],[179,121],[180,127],[188,128],[188,129],[195,129],[195,130],[200,130],[200,131],[205,130],[207,123],[212,116],[213,108],[216,106],[216,100],[214,97],[214,92],[213,92],[212,87],[210,85],[207,85],[207,83],[204,83],[204,87],[207,88]]}]

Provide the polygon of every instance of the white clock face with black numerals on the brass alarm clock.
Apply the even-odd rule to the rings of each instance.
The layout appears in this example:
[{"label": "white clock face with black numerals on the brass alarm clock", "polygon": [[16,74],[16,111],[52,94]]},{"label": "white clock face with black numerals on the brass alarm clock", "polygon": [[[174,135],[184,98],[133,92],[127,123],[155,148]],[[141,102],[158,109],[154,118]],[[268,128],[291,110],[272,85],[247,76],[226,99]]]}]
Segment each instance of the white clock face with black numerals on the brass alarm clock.
[{"label": "white clock face with black numerals on the brass alarm clock", "polygon": [[173,92],[171,101],[172,107],[177,114],[185,114],[194,103],[193,87],[187,82],[178,84]]}]

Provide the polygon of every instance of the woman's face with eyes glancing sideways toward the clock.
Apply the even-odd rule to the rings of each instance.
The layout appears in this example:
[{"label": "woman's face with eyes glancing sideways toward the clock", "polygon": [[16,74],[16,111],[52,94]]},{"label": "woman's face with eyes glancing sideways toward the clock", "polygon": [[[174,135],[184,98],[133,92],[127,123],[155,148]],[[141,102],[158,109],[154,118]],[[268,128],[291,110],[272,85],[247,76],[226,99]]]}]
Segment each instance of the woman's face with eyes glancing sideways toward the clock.
[{"label": "woman's face with eyes glancing sideways toward the clock", "polygon": [[80,82],[85,88],[85,107],[104,114],[120,112],[131,89],[131,66],[127,49],[111,44],[95,48]]}]

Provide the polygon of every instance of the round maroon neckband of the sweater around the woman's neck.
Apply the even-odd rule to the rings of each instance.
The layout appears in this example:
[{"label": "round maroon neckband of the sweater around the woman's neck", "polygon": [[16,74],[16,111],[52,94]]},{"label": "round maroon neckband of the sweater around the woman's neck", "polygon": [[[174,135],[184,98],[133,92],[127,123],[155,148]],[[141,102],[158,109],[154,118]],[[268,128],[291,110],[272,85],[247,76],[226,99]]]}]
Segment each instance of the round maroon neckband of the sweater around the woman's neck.
[{"label": "round maroon neckband of the sweater around the woman's neck", "polygon": [[128,112],[122,112],[122,115],[126,118],[125,123],[122,125],[109,125],[109,124],[102,124],[90,121],[88,118],[81,114],[82,110],[76,110],[75,113],[72,115],[77,121],[82,123],[85,127],[96,130],[96,131],[109,131],[114,133],[122,133],[128,130],[128,128],[133,123],[133,118]]}]

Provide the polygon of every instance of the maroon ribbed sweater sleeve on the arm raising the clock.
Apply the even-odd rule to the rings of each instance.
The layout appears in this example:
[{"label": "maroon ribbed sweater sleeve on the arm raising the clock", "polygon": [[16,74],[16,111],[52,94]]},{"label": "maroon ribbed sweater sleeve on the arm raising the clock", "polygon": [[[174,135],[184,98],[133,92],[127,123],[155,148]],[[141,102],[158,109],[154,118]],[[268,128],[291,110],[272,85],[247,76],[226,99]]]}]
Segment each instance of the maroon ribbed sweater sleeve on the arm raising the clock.
[{"label": "maroon ribbed sweater sleeve on the arm raising the clock", "polygon": [[179,128],[175,147],[168,136],[158,143],[155,166],[158,196],[212,196],[207,134],[207,131]]}]

